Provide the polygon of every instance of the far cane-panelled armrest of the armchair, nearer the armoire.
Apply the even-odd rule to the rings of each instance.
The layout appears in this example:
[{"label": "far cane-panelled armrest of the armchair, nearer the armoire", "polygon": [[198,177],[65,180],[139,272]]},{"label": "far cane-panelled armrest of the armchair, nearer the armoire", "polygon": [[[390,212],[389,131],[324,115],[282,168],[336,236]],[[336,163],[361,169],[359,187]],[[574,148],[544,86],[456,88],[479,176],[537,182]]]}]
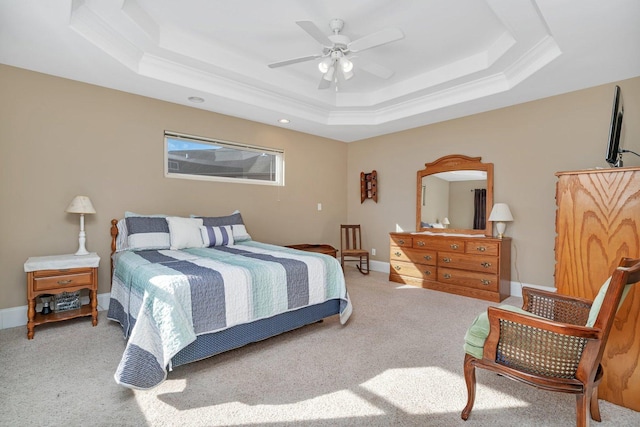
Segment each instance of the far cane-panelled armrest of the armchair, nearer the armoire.
[{"label": "far cane-panelled armrest of the armchair, nearer the armoire", "polygon": [[560,295],[534,288],[522,288],[522,309],[546,319],[572,325],[585,325],[592,302],[585,298]]}]

